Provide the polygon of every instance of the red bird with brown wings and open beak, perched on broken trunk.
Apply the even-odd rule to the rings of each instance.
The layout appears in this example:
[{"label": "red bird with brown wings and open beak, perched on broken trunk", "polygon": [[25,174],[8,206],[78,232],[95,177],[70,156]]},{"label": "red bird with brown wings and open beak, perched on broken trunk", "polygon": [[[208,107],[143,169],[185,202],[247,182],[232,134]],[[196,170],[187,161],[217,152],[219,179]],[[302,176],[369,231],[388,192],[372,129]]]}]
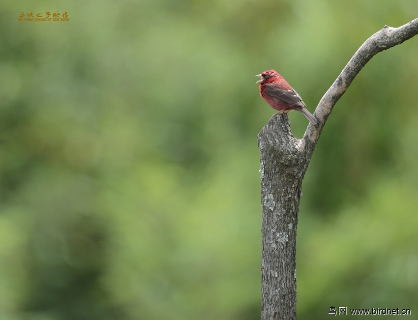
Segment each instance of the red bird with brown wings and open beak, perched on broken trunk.
[{"label": "red bird with brown wings and open beak, perched on broken trunk", "polygon": [[264,71],[262,74],[256,75],[261,80],[257,81],[260,84],[260,95],[271,108],[279,112],[271,116],[277,116],[281,112],[289,112],[291,110],[300,111],[303,116],[313,124],[321,123],[315,116],[313,116],[304,106],[302,98],[299,94],[274,70]]}]

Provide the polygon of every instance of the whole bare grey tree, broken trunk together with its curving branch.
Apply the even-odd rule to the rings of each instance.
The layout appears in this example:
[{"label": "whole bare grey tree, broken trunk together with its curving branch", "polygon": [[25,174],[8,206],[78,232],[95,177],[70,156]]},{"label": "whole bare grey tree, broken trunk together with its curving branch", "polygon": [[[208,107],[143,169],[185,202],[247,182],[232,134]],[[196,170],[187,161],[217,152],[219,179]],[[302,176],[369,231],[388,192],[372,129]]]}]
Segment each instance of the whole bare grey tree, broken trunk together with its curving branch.
[{"label": "whole bare grey tree, broken trunk together with its curving branch", "polygon": [[302,139],[292,135],[287,114],[274,117],[258,134],[262,201],[262,320],[296,320],[296,229],[302,179],[335,103],[377,53],[418,34],[418,18],[385,26],[363,43],[319,102]]}]

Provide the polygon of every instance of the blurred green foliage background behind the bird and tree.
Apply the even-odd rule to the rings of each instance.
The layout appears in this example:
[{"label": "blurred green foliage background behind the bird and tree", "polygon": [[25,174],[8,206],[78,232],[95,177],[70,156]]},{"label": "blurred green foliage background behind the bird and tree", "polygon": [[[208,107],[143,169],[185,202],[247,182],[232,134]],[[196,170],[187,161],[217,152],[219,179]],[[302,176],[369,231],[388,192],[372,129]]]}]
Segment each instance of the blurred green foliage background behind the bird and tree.
[{"label": "blurred green foliage background behind the bird and tree", "polygon": [[[17,21],[46,11],[70,21]],[[0,319],[256,320],[257,134],[274,110],[255,75],[277,70],[313,112],[418,2],[6,0],[0,16]],[[372,58],[324,128],[299,319],[418,312],[417,53],[415,37]]]}]

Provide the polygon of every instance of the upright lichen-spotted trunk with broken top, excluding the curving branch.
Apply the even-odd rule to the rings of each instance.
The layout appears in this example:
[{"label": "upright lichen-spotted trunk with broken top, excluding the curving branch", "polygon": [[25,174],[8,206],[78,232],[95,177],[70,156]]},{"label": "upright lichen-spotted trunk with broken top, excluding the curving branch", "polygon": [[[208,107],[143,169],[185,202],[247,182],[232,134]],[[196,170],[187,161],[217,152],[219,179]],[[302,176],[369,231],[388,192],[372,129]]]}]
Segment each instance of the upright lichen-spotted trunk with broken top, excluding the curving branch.
[{"label": "upright lichen-spotted trunk with broken top, excluding the curving branch", "polygon": [[261,156],[262,319],[296,319],[296,230],[305,142],[292,135],[287,114],[258,135]]}]

